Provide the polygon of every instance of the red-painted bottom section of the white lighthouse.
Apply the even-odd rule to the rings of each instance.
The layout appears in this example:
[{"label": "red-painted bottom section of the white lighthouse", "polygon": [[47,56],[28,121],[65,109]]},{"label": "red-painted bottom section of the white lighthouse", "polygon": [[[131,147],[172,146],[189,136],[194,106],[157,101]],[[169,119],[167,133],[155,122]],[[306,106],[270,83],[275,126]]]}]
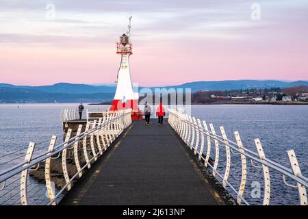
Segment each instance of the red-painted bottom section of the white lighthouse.
[{"label": "red-painted bottom section of the white lighthouse", "polygon": [[132,120],[142,120],[142,112],[140,112],[138,107],[138,100],[127,100],[125,103],[121,100],[112,101],[112,106],[110,111],[127,110],[131,109],[131,119]]}]

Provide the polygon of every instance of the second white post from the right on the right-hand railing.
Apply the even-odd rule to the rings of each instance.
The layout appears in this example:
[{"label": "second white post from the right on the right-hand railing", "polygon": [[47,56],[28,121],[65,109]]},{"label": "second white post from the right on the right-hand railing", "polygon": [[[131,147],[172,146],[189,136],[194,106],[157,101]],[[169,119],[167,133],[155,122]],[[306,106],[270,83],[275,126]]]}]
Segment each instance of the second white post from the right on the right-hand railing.
[{"label": "second white post from the right on the right-hand railing", "polygon": [[[257,147],[257,152],[259,154],[259,158],[261,160],[264,160],[266,158],[261,142],[257,138],[255,139],[255,146]],[[263,199],[263,205],[270,205],[270,170],[268,169],[268,166],[262,164],[263,172],[264,172],[264,199]]]}]

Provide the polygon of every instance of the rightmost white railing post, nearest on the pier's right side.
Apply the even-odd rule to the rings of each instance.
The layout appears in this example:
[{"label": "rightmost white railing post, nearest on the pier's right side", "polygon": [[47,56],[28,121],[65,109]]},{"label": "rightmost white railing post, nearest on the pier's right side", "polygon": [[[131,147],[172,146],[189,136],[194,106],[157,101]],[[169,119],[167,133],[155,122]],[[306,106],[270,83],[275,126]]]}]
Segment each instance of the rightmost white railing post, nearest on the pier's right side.
[{"label": "rightmost white railing post, nearest on the pier's right side", "polygon": [[[289,157],[293,174],[296,177],[302,176],[302,172],[300,171],[300,166],[298,164],[294,150],[287,151],[287,157]],[[297,188],[298,188],[298,196],[300,198],[300,205],[307,205],[307,191],[305,186],[300,183],[297,183]]]}]

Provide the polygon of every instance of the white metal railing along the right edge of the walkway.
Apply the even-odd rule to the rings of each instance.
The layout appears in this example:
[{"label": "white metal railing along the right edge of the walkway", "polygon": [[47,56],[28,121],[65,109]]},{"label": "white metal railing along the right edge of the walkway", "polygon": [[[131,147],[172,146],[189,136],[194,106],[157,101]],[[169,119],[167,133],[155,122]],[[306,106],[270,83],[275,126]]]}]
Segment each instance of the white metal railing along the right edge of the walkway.
[{"label": "white metal railing along the right edge of the walkway", "polygon": [[[203,157],[203,154],[199,154],[199,153],[203,153],[203,151],[201,151],[201,149],[199,151],[197,150],[198,149],[198,145],[197,145],[198,142],[197,141],[194,142],[194,131],[198,132],[197,135],[202,134],[203,136],[207,136],[209,138],[209,140],[217,141],[218,148],[216,150],[218,150],[218,153],[219,153],[219,148],[222,145],[226,146],[226,148],[228,148],[228,149],[231,149],[231,152],[233,152],[233,150],[238,152],[236,154],[243,156],[244,159],[245,159],[245,162],[244,162],[245,171],[246,171],[246,157],[251,159],[251,162],[253,162],[253,160],[254,160],[255,162],[258,162],[259,164],[262,164],[261,166],[255,166],[253,164],[253,167],[263,168],[263,170],[264,170],[264,181],[266,183],[265,184],[266,190],[264,192],[268,193],[268,194],[266,194],[266,193],[264,194],[264,205],[269,204],[269,201],[270,201],[270,172],[268,172],[268,167],[275,170],[275,171],[280,172],[283,175],[283,182],[284,183],[285,183],[285,176],[290,177],[291,179],[296,181],[296,183],[298,184],[296,186],[296,188],[298,188],[300,203],[302,205],[307,205],[307,192],[306,192],[305,188],[308,186],[308,179],[307,179],[307,177],[304,177],[303,175],[301,175],[301,172],[300,172],[297,160],[296,160],[296,156],[295,156],[295,153],[294,153],[293,150],[287,151],[289,159],[290,159],[290,164],[292,166],[292,170],[291,170],[290,168],[287,168],[287,167],[285,167],[281,164],[278,164],[277,162],[274,162],[274,161],[266,158],[259,140],[255,140],[255,143],[256,143],[256,146],[257,146],[257,149],[258,149],[257,150],[258,153],[255,153],[254,151],[246,149],[244,146],[242,146],[242,142],[240,142],[240,144],[241,144],[241,146],[240,146],[240,144],[237,144],[237,143],[227,139],[227,136],[225,136],[225,133],[224,133],[224,136],[223,136],[223,133],[222,133],[222,136],[219,136],[218,134],[216,134],[214,132],[214,126],[212,124],[210,125],[211,130],[208,130],[205,121],[203,121],[204,127],[202,127],[199,119],[198,119],[199,124],[197,125],[195,118],[192,119],[190,116],[188,116],[187,114],[184,114],[183,112],[179,112],[177,110],[172,110],[172,109],[168,109],[168,111],[170,113],[168,123],[171,125],[171,127],[173,129],[175,129],[175,131],[177,131],[177,133],[179,133],[179,136],[181,136],[181,138],[184,140],[184,142],[188,146],[190,146],[190,149],[193,149],[194,144],[196,144],[196,148],[194,149],[194,153],[199,155],[199,159],[203,159],[203,161],[205,162],[205,166],[209,166],[213,170],[214,177],[217,174],[218,177],[220,177],[222,179],[223,184],[226,183],[227,185],[229,185],[231,190],[233,190],[233,192],[235,192],[235,194],[238,195],[238,200],[240,198],[240,200],[244,201],[244,203],[246,203],[246,205],[248,204],[244,200],[242,195],[240,194],[240,190],[239,190],[239,192],[237,192],[233,188],[233,186],[227,180],[224,179],[224,178],[226,178],[226,173],[225,173],[225,176],[222,177],[218,173],[218,171],[216,170],[217,167],[215,168],[215,166],[212,166],[211,164],[209,164],[209,161]],[[192,120],[194,120],[194,122],[192,122]],[[221,128],[223,129],[223,127],[221,127]],[[192,142],[190,142],[191,132],[192,132],[192,135],[193,135]],[[238,132],[236,132],[236,133],[238,133]],[[240,138],[240,137],[238,136],[238,138]],[[221,145],[219,143],[221,143]],[[204,144],[204,142],[203,142],[203,144]],[[208,144],[210,145],[211,143],[208,142]],[[203,148],[203,146],[201,148]],[[209,151],[207,151],[207,154],[209,155]],[[216,157],[215,157],[215,160],[216,160]],[[292,160],[292,162],[291,162],[291,160]],[[243,163],[242,163],[242,165],[243,165]],[[245,175],[246,175],[246,173],[245,173]],[[227,174],[227,177],[228,176],[229,176],[229,172]],[[244,179],[244,183],[245,182],[246,182],[246,178]],[[285,183],[285,185],[294,188],[293,185],[290,186],[290,184],[288,184],[288,183]],[[243,193],[244,187],[240,188],[240,189],[242,189],[241,192]],[[238,203],[240,204],[240,201],[238,201]]]}]

